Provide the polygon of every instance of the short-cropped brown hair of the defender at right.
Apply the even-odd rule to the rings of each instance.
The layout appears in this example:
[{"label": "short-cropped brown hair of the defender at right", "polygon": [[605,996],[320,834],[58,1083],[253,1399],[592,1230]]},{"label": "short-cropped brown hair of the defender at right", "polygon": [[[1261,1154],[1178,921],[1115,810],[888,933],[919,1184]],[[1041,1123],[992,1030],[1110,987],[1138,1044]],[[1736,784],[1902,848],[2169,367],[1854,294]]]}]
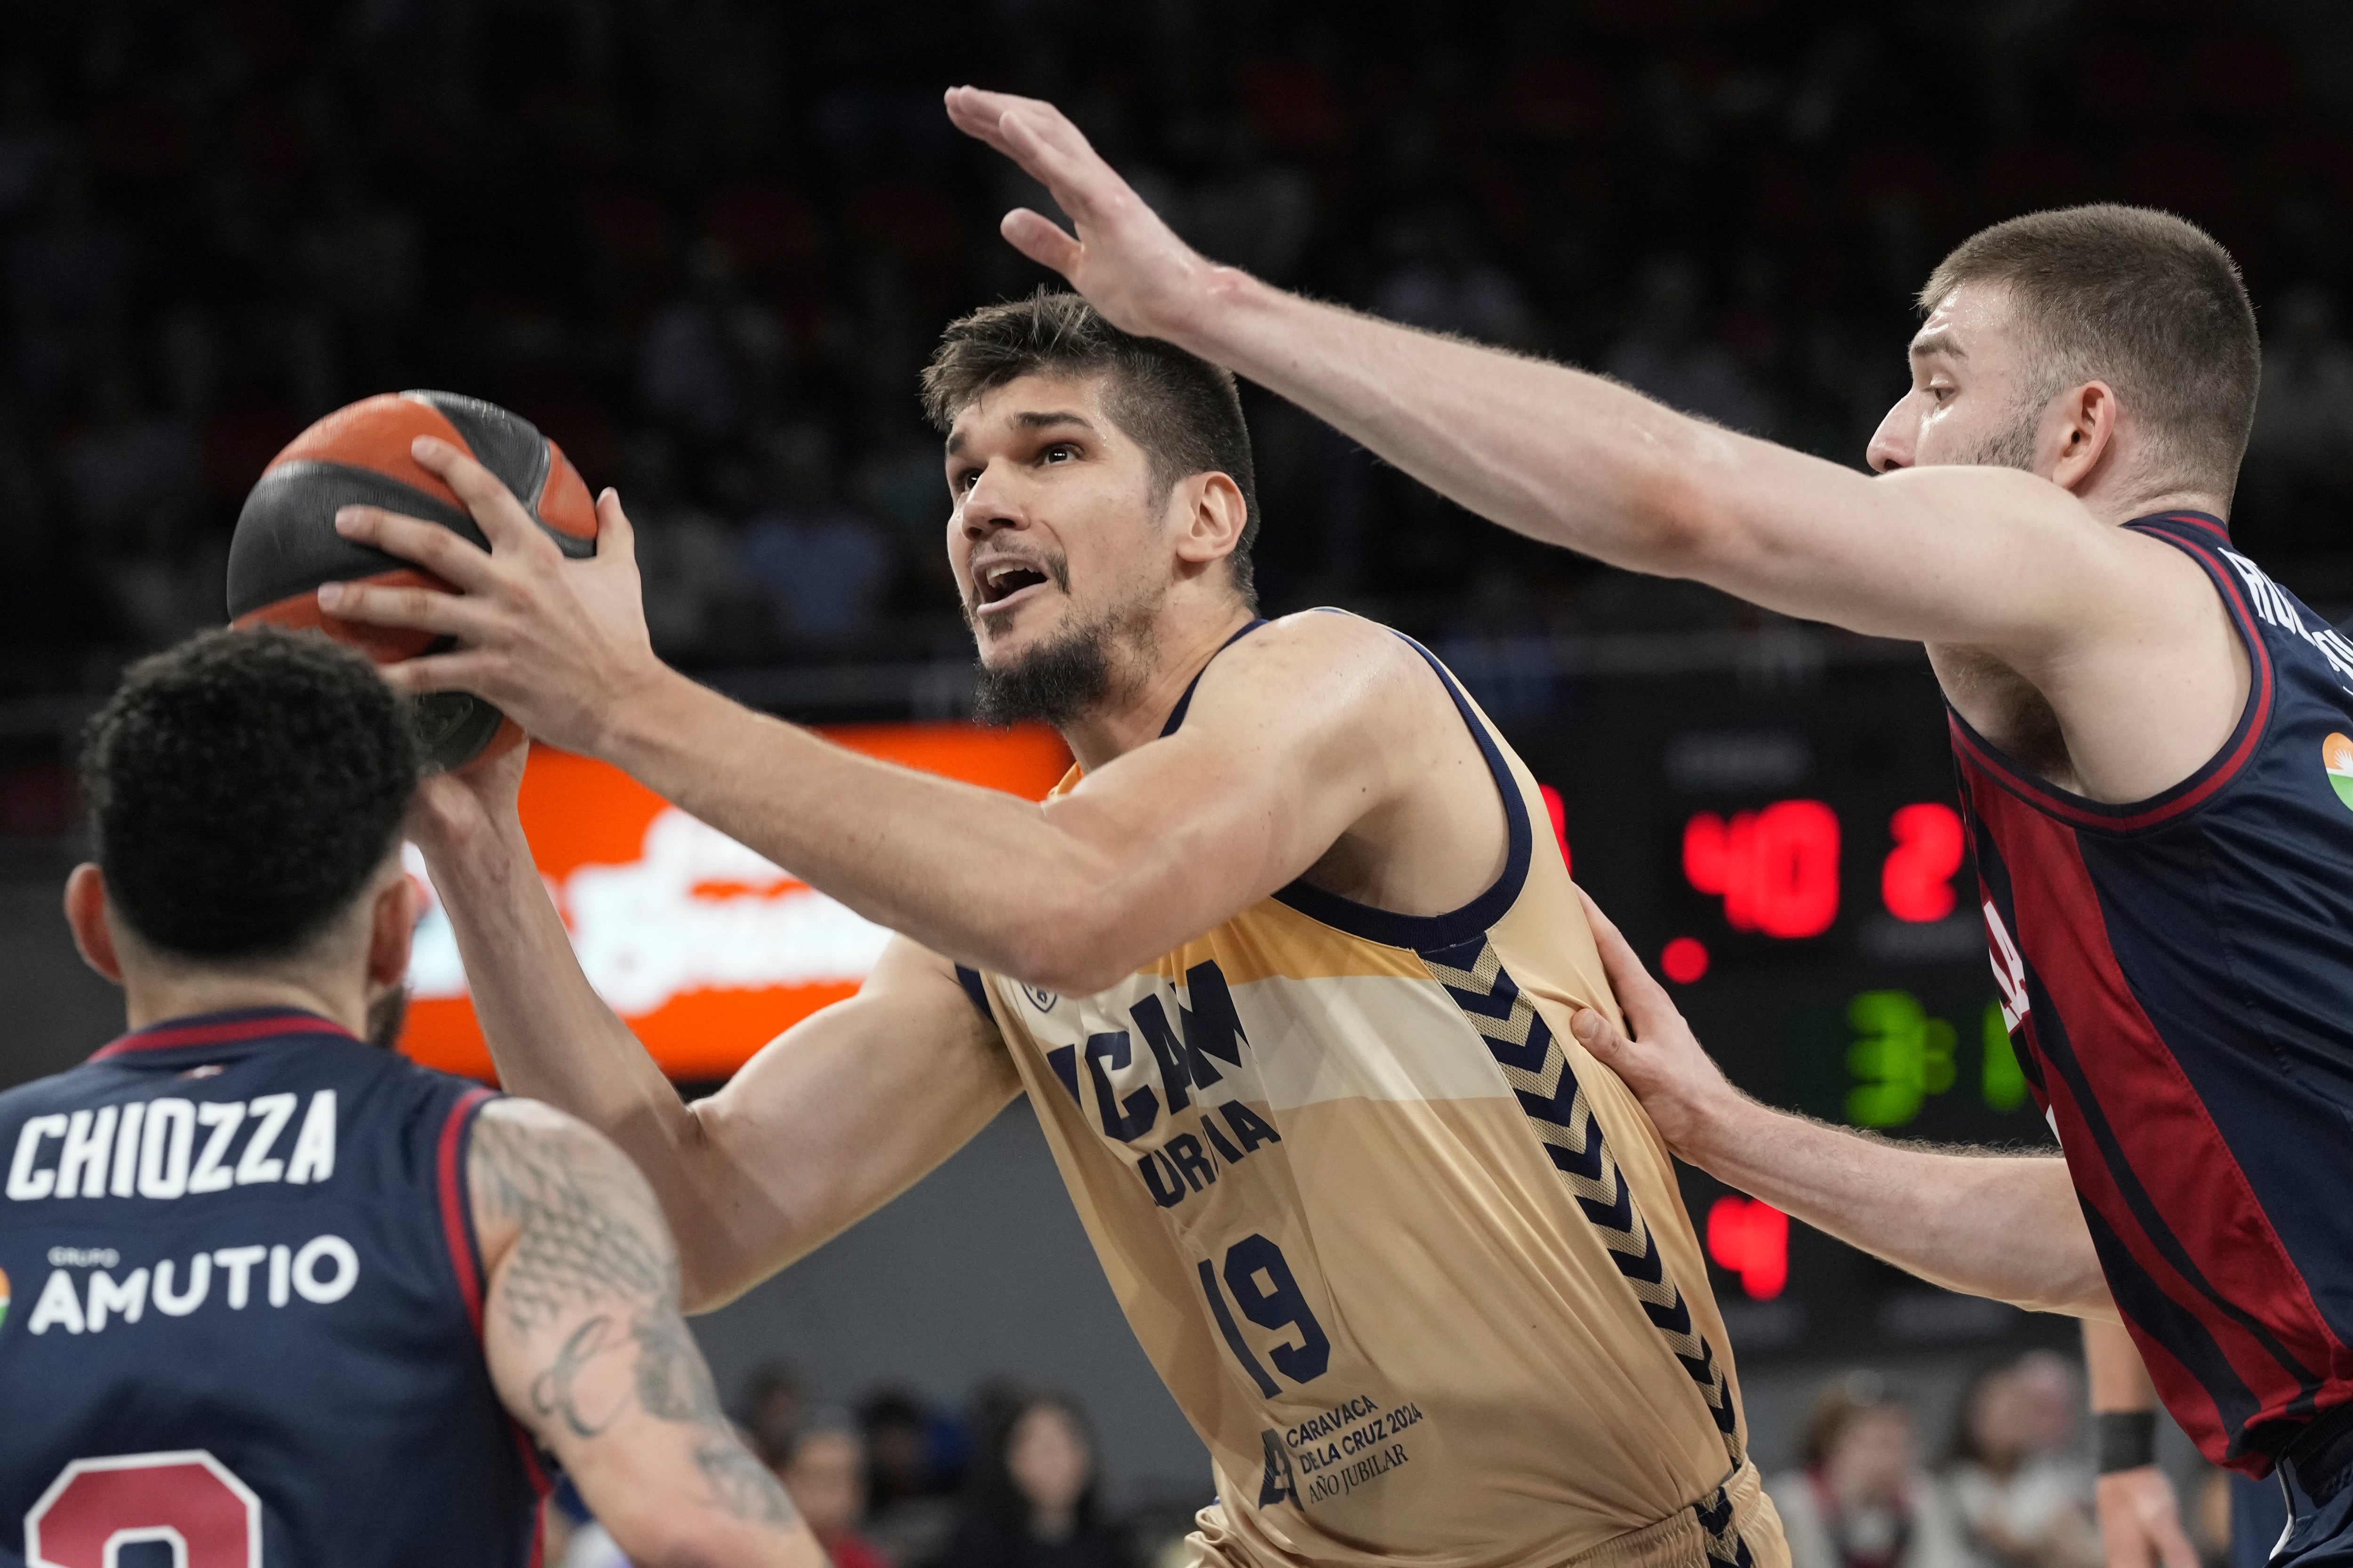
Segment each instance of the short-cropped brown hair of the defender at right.
[{"label": "short-cropped brown hair of the defender at right", "polygon": [[1920,289],[1934,310],[2000,282],[2047,357],[2047,393],[2101,378],[2146,421],[2162,461],[2228,496],[2247,456],[2264,350],[2231,252],[2148,207],[2061,207],[1984,228]]}]

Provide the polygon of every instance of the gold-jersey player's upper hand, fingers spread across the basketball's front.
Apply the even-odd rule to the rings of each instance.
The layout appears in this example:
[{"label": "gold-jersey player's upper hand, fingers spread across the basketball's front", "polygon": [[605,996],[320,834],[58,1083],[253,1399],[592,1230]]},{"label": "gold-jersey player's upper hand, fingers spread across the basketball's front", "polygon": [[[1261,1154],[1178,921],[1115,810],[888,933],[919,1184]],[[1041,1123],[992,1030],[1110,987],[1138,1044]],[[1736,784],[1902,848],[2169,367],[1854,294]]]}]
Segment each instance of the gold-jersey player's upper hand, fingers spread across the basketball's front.
[{"label": "gold-jersey player's upper hand, fingers spread across the basketball's front", "polygon": [[628,698],[664,675],[621,498],[609,489],[598,496],[595,557],[567,562],[471,456],[431,435],[416,437],[412,454],[466,503],[489,550],[435,522],[346,505],[334,517],[344,538],[416,562],[459,592],[327,583],[320,609],[454,637],[454,649],[388,665],[386,677],[405,691],[473,691],[541,741],[600,752]]}]

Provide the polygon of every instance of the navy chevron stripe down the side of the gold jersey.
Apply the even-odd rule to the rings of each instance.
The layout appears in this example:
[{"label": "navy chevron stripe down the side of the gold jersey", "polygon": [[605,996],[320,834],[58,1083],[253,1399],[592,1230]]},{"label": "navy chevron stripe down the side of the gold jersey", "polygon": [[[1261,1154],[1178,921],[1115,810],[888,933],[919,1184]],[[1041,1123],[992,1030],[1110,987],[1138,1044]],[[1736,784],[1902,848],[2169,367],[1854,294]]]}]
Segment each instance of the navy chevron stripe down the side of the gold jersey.
[{"label": "navy chevron stripe down the side of the gold jersey", "polygon": [[1692,1324],[1692,1309],[1668,1276],[1666,1258],[1659,1255],[1649,1225],[1633,1206],[1633,1187],[1626,1185],[1617,1159],[1602,1143],[1602,1126],[1569,1070],[1569,1053],[1511,973],[1504,971],[1494,943],[1485,936],[1457,947],[1428,950],[1421,961],[1431,966],[1431,976],[1447,987],[1447,994],[1487,1041],[1487,1051],[1504,1070],[1504,1081],[1511,1084],[1520,1110],[1527,1112],[1527,1126],[1544,1140],[1544,1152],[1553,1157],[1553,1168],[1567,1182],[1569,1197],[1609,1246],[1609,1260],[1633,1286],[1645,1316],[1666,1338],[1675,1361],[1699,1385],[1701,1399],[1708,1401],[1708,1415],[1715,1418],[1715,1429],[1725,1434],[1725,1453],[1739,1469],[1744,1462],[1739,1413],[1732,1406],[1732,1389],[1725,1385],[1725,1368],[1708,1349],[1708,1338]]}]

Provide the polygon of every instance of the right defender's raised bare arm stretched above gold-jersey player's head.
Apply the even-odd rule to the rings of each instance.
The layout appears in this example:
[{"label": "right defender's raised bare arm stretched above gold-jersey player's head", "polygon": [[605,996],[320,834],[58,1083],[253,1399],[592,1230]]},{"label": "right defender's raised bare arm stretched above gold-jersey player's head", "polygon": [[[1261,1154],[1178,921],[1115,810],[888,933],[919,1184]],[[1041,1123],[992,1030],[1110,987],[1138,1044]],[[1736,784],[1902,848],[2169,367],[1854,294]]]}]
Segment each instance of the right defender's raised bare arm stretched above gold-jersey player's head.
[{"label": "right defender's raised bare arm stretched above gold-jersey player's head", "polygon": [[[2184,614],[2214,618],[2193,567],[2035,475],[1873,480],[1602,376],[1287,294],[1186,247],[1052,103],[958,87],[948,115],[1071,214],[1075,233],[1014,212],[1005,237],[1115,324],[1289,397],[1520,534],[1857,632],[1986,649],[2038,684],[2087,644],[2162,649]],[[2212,651],[2228,675],[2228,642]]]}]

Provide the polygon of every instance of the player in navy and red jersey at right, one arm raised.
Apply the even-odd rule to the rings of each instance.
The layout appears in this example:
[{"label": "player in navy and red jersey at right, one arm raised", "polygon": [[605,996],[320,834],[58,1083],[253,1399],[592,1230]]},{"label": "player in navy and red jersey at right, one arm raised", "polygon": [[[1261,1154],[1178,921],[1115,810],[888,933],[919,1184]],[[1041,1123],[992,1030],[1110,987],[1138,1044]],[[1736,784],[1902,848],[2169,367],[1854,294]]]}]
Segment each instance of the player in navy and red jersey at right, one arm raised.
[{"label": "player in navy and red jersey at right, one arm raised", "polygon": [[[2353,642],[2231,545],[2259,348],[2224,249],[2122,207],[1967,240],[1920,292],[1871,480],[1214,266],[1049,103],[958,87],[948,115],[1075,228],[1014,212],[1007,240],[1120,327],[1534,538],[1927,644],[2002,1009],[2066,1168],[1746,1100],[1624,945],[1642,1044],[1588,1011],[1588,1046],[1687,1159],[1882,1258],[2082,1312],[2108,1309],[2104,1279],[2200,1448],[2278,1467],[2285,1559],[2353,1556]],[[2101,1366],[2094,1403],[2129,1403]],[[2146,1427],[2104,1420],[2104,1446],[2148,1502]],[[2144,1556],[2160,1535],[2104,1521]]]}]

